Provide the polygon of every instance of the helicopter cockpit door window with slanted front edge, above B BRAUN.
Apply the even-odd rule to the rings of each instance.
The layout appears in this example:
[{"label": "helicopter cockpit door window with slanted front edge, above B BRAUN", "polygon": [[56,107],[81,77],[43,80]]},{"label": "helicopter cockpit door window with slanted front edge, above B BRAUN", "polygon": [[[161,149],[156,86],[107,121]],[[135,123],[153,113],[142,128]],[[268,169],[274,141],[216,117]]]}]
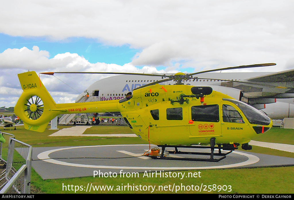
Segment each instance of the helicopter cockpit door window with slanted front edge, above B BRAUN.
[{"label": "helicopter cockpit door window with slanted front edge, above B BRAUN", "polygon": [[244,120],[238,110],[231,105],[223,105],[223,122],[242,123]]}]

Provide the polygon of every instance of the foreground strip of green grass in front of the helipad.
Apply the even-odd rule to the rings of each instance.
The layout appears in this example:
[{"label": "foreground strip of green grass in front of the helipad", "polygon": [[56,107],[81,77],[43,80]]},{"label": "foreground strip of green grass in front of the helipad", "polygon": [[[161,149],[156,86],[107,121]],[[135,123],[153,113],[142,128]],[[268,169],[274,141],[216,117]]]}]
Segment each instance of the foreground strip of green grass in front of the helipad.
[{"label": "foreground strip of green grass in front of the helipad", "polygon": [[[143,177],[143,173],[139,174],[139,178],[102,178],[102,177],[81,177],[70,179],[55,179],[55,180],[42,180],[40,177],[33,174],[34,180],[32,184],[39,187],[44,193],[75,193],[75,191],[62,190],[62,186],[74,185],[85,186],[89,185],[108,185],[117,186],[123,185],[152,185],[168,186],[173,184],[181,186],[191,185],[226,185],[231,186],[232,191],[178,191],[177,193],[221,193],[221,194],[248,194],[248,193],[293,193],[293,180],[285,178],[286,174],[293,173],[294,167],[279,167],[279,168],[257,168],[257,169],[212,169],[200,170],[201,177],[186,178],[182,180],[178,178],[149,178]],[[176,171],[180,172],[180,171]],[[199,170],[181,171],[185,174],[189,172],[199,172]],[[34,172],[35,173],[35,172]],[[119,175],[118,175],[119,176]],[[289,177],[289,176],[288,176]],[[71,189],[71,188],[70,188]],[[79,188],[80,189],[80,188]],[[208,189],[208,188],[207,188]],[[86,193],[85,191],[76,191],[76,193]],[[87,192],[89,193],[89,192]],[[151,193],[151,191],[92,191],[90,193]],[[153,191],[153,193],[171,193],[171,191]],[[175,191],[173,191],[175,193]]]}]

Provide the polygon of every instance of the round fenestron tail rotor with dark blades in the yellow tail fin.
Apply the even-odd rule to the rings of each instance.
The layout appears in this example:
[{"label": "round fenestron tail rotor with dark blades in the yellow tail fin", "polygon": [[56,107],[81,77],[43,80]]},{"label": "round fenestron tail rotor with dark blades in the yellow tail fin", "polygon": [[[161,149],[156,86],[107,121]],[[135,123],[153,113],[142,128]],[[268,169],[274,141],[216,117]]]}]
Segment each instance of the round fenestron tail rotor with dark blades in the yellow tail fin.
[{"label": "round fenestron tail rotor with dark blades in the yellow tail fin", "polygon": [[44,112],[44,103],[42,99],[38,96],[31,96],[26,100],[27,102],[24,104],[26,105],[26,109],[24,112],[27,112],[27,117],[31,120],[39,119],[43,112]]}]

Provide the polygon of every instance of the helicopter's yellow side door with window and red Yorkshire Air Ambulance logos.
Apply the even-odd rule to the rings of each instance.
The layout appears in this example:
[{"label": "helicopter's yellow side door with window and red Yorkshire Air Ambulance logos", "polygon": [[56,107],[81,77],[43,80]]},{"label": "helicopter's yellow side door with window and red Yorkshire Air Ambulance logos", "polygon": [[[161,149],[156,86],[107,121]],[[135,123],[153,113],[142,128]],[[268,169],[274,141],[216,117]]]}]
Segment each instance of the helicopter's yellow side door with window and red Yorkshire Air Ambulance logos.
[{"label": "helicopter's yellow side door with window and red Yorkshire Air Ambulance logos", "polygon": [[221,136],[218,104],[190,107],[190,137]]}]

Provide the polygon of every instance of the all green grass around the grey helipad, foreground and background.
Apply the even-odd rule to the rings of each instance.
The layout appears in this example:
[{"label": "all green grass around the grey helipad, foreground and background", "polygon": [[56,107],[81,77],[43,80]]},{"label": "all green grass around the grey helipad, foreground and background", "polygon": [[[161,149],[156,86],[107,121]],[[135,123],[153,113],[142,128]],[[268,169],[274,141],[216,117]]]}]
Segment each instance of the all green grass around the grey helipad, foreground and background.
[{"label": "all green grass around the grey helipad, foreground and background", "polygon": [[[60,126],[59,129],[69,127]],[[12,133],[16,139],[31,144],[33,147],[53,147],[53,146],[88,146],[102,144],[146,144],[140,138],[110,138],[110,137],[48,137],[54,130],[46,130],[44,133],[31,132],[24,130],[23,127],[17,131],[4,131]],[[132,133],[128,127],[122,126],[95,126],[91,128],[93,132]],[[113,129],[113,130],[112,130]],[[99,132],[100,131],[100,132]],[[87,133],[88,134],[88,133]],[[292,135],[291,135],[292,134]],[[253,140],[262,142],[275,142],[294,144],[294,131],[272,128],[263,135],[259,135]],[[283,152],[275,149],[253,146],[251,151],[263,154],[278,155],[294,158],[294,153]],[[111,170],[110,170],[111,171]],[[178,172],[198,172],[199,170],[178,171]],[[245,193],[294,193],[293,174],[294,167],[275,167],[275,168],[255,168],[255,169],[211,169],[200,170],[201,177],[186,178],[147,178],[141,173],[139,178],[99,178],[99,177],[80,177],[67,179],[43,180],[34,170],[32,170],[31,186],[34,193],[75,193],[75,191],[65,191],[63,185],[85,186],[89,185],[153,185],[168,186],[173,184],[191,186],[199,185],[230,185],[232,191],[201,191],[201,193],[222,193],[222,194],[245,194]],[[119,176],[119,175],[118,175]],[[73,187],[74,188],[74,187]],[[80,188],[79,188],[80,189]],[[76,193],[86,193],[77,191]],[[92,193],[92,192],[91,192]],[[151,193],[150,191],[95,191],[93,193]],[[171,191],[154,191],[153,193],[172,193]],[[175,193],[175,191],[173,191]],[[199,191],[178,191],[177,193],[200,193]]]}]

